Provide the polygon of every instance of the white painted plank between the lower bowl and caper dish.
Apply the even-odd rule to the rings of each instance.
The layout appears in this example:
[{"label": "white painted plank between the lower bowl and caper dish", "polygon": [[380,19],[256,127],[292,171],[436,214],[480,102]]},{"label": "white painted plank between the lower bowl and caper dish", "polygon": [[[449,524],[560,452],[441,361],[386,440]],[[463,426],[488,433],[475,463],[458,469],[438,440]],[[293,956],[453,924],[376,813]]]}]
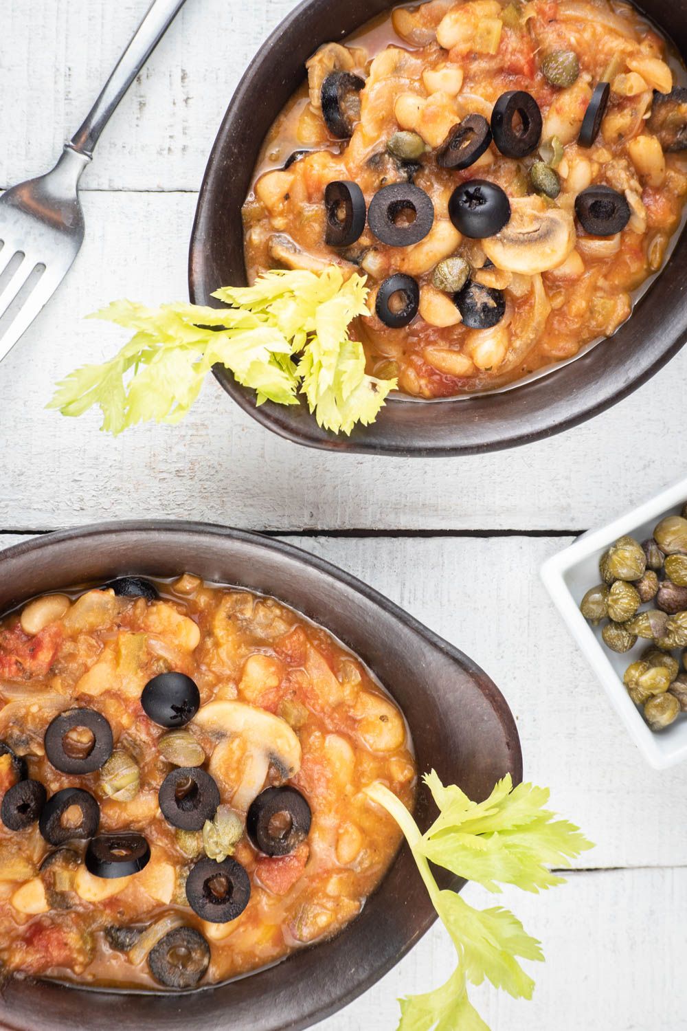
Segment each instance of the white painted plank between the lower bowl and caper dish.
[{"label": "white painted plank between the lower bowl and caper dish", "polygon": [[526,778],[549,787],[552,807],[596,842],[581,867],[687,866],[684,769],[646,765],[539,583],[540,564],[564,540],[290,542],[377,588],[483,666],[517,720]]}]

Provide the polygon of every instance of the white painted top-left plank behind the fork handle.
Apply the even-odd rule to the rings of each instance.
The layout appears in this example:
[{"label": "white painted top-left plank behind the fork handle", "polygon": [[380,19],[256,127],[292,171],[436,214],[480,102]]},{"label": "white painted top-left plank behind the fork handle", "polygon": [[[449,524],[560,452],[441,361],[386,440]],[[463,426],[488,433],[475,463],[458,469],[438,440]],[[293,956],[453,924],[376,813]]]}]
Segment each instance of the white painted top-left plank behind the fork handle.
[{"label": "white painted top-left plank behind the fork handle", "polygon": [[[149,0],[4,0],[2,186],[57,159],[148,6]],[[241,74],[294,6],[295,0],[187,0],[112,117],[83,186],[197,190]]]}]

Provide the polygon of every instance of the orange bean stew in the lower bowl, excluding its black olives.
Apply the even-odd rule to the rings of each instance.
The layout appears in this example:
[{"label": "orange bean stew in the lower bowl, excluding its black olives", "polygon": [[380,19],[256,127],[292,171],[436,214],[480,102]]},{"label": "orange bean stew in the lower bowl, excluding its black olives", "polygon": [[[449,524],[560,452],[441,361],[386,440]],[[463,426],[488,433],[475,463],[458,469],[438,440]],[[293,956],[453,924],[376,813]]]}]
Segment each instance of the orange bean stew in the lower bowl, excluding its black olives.
[{"label": "orange bean stew in the lower bowl, excluding its black olives", "polygon": [[[359,912],[400,843],[396,824],[364,789],[382,780],[412,807],[412,743],[402,713],[364,663],[272,598],[192,575],[157,588],[161,597],[153,601],[102,590],[68,593],[42,626],[40,608],[37,617],[35,609],[28,619],[15,612],[0,624],[0,740],[25,757],[29,776],[48,796],[67,787],[85,789],[100,803],[100,833],[139,832],[151,850],[140,873],[107,880],[83,867],[87,842],[69,841],[77,865],[63,871],[54,895],[44,861],[55,850],[37,825],[20,831],[0,825],[0,960],[8,971],[161,989],[145,958],[133,964],[108,945],[105,931],[176,917],[209,943],[201,986],[224,980],[341,930]],[[190,855],[188,840],[182,841],[158,804],[159,788],[174,767],[160,751],[166,730],[148,719],[140,699],[151,677],[171,670],[198,685],[201,708],[185,730],[205,753],[202,765],[214,777],[222,805],[244,824],[255,793],[283,784],[283,772],[271,758],[267,775],[255,773],[263,751],[270,751],[269,733],[265,740],[228,734],[203,720],[205,707],[230,701],[262,710],[279,733],[295,733],[300,745],[299,768],[288,784],[310,805],[310,832],[289,855],[269,858],[244,829],[234,859],[248,873],[250,899],[226,924],[207,923],[187,905],[184,880],[194,862],[205,858],[202,837],[196,835],[197,851]],[[45,729],[74,707],[104,716],[114,749],[135,760],[140,785],[132,799],[106,797],[99,771],[61,773],[48,761]],[[16,780],[9,756],[0,757],[0,774],[2,796]]]}]

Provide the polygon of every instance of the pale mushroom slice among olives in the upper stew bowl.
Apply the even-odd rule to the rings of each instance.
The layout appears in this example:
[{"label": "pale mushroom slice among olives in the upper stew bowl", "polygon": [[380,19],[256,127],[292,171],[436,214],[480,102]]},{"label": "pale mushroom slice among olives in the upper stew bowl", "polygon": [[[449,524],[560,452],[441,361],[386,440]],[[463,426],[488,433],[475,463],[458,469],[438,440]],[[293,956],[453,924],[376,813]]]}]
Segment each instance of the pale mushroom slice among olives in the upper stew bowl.
[{"label": "pale mushroom slice among olives in the upper stew bowl", "polygon": [[571,211],[537,205],[531,197],[511,200],[511,220],[482,240],[484,253],[505,272],[536,275],[562,265],[577,237]]}]

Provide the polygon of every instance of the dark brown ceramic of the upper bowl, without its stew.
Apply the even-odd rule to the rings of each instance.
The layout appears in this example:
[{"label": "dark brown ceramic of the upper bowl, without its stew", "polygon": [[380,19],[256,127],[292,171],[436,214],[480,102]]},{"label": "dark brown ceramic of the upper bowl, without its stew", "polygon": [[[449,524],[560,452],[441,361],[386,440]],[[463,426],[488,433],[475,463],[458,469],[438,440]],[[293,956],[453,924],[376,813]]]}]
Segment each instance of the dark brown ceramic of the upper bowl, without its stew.
[{"label": "dark brown ceramic of the upper bowl, without its stew", "polygon": [[[393,6],[392,0],[306,0],[291,11],[243,76],[217,134],[201,187],[191,240],[192,300],[212,304],[227,284],[245,285],[241,205],[263,140],[305,77],[305,62],[323,42],[338,40]],[[687,0],[641,5],[687,54]],[[598,414],[646,383],[687,339],[687,234],[666,268],[614,337],[569,365],[502,394],[422,402],[389,399],[372,426],[350,437],[321,430],[304,402],[255,407],[253,391],[224,368],[215,375],[245,411],[297,443],[340,452],[450,456],[513,447],[551,436]]]}]

